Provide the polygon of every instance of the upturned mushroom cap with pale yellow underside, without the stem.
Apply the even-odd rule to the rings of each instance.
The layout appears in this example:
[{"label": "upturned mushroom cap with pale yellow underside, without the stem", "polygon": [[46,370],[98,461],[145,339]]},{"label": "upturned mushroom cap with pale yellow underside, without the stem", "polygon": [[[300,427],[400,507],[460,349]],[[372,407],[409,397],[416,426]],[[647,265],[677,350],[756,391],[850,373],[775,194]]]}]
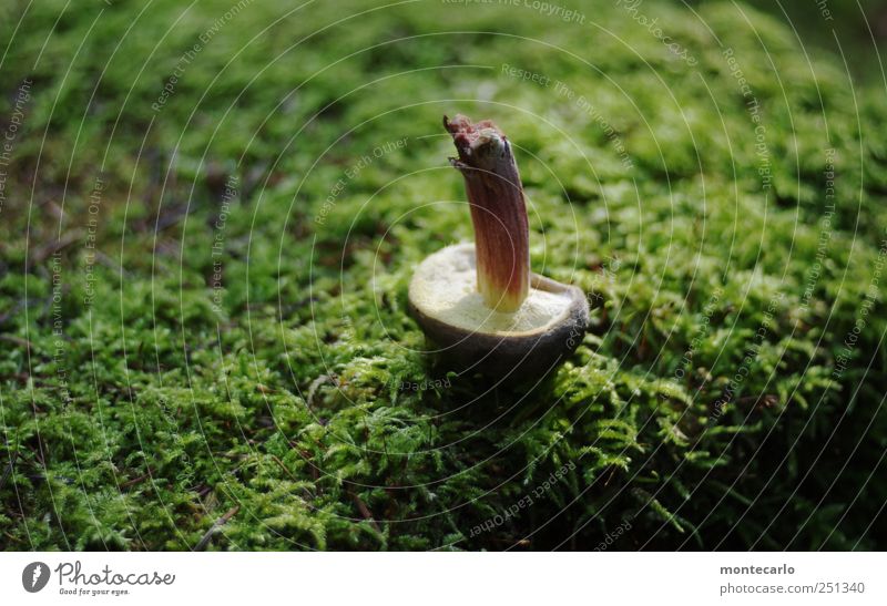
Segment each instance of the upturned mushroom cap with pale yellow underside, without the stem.
[{"label": "upturned mushroom cap with pale yellow underside, without the stem", "polygon": [[438,352],[457,366],[497,376],[544,374],[582,341],[589,305],[582,290],[531,274],[520,309],[490,309],[477,291],[475,246],[428,256],[412,276],[409,307]]}]

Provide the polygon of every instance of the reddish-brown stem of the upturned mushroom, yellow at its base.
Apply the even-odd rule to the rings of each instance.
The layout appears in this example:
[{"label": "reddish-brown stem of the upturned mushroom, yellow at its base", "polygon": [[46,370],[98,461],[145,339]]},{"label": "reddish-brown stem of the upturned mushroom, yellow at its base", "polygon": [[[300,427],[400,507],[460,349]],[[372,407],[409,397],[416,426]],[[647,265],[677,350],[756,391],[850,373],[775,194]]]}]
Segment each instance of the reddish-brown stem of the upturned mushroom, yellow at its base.
[{"label": "reddish-brown stem of the upturned mushroom, yellow at its base", "polygon": [[517,311],[530,289],[530,233],[518,165],[506,135],[489,120],[443,116],[459,152],[475,226],[477,287],[487,307]]}]

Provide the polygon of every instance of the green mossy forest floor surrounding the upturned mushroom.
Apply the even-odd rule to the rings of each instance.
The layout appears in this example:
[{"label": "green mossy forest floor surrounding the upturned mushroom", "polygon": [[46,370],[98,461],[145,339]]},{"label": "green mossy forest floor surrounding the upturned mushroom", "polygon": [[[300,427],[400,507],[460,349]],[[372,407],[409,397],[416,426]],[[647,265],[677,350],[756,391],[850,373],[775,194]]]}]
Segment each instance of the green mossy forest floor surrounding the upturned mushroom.
[{"label": "green mossy forest floor surrounding the upturned mushroom", "polygon": [[[733,2],[500,4],[1,9],[0,547],[887,547],[883,73]],[[541,381],[407,314],[472,237],[457,112],[593,306]]]}]

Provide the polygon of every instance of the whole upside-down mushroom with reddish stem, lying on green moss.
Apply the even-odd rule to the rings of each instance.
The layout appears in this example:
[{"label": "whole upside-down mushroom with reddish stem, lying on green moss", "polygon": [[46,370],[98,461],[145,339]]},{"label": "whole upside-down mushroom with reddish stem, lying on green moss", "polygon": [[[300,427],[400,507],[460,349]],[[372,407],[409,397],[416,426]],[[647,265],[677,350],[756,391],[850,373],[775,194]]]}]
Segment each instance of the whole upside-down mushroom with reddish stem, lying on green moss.
[{"label": "whole upside-down mushroom with reddish stem, lying on green moss", "polygon": [[511,145],[491,121],[443,116],[465,178],[475,244],[447,246],[416,268],[409,306],[428,338],[461,366],[544,373],[582,340],[582,291],[530,270],[527,205]]}]

